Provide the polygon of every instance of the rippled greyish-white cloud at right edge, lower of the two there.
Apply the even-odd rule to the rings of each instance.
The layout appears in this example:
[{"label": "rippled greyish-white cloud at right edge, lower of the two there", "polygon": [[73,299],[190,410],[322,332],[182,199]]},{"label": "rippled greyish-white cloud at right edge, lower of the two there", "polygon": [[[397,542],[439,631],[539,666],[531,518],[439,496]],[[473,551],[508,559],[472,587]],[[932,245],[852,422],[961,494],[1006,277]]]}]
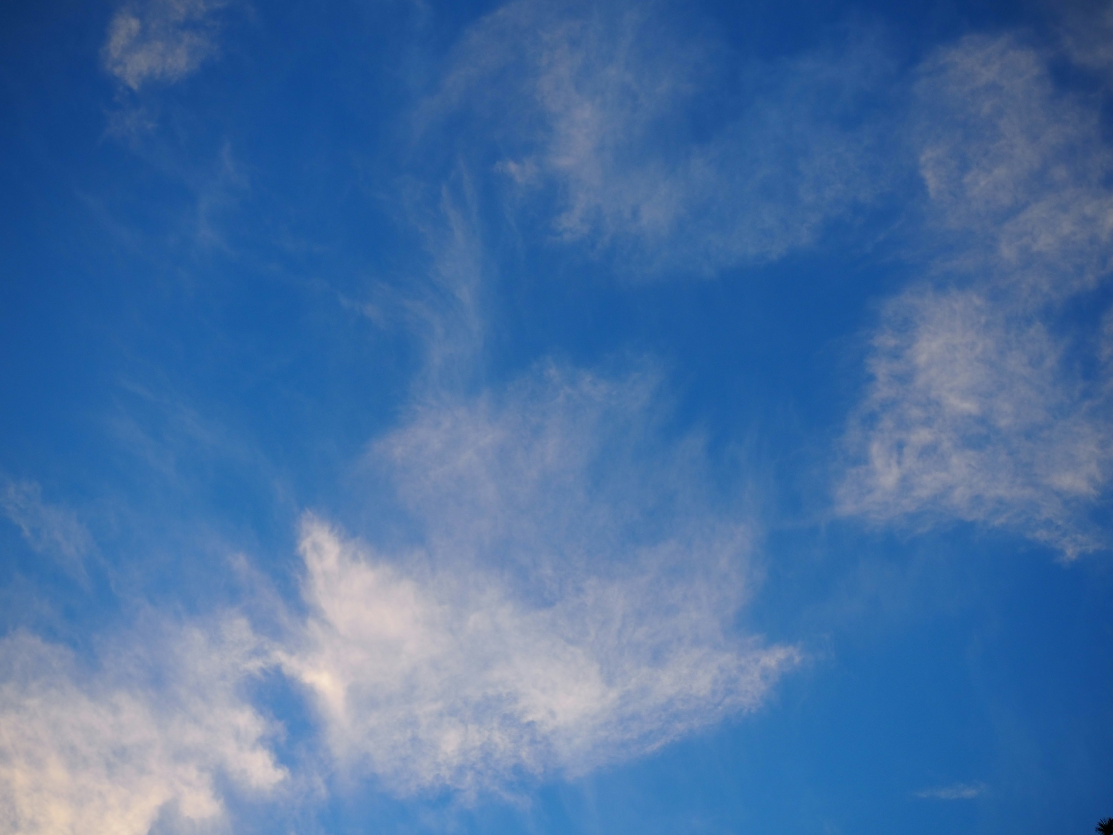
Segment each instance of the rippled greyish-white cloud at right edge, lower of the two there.
[{"label": "rippled greyish-white cloud at right edge, lower of the two there", "polygon": [[1110,477],[1107,386],[1072,375],[1038,320],[971,291],[909,293],[884,318],[841,510],[1004,525],[1068,557],[1101,547],[1084,520]]}]

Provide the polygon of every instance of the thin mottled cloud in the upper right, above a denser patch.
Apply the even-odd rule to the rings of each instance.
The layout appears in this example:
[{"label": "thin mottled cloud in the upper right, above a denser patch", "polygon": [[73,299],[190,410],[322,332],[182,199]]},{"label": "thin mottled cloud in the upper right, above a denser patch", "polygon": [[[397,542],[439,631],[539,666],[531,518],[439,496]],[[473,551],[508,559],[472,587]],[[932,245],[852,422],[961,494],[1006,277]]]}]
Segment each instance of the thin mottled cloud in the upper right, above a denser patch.
[{"label": "thin mottled cloud in the upper right, above a denser patch", "polygon": [[1113,155],[1093,101],[1057,90],[1012,38],[967,38],[920,70],[920,174],[956,233],[944,268],[1004,285],[1014,305],[1092,287],[1113,266]]}]

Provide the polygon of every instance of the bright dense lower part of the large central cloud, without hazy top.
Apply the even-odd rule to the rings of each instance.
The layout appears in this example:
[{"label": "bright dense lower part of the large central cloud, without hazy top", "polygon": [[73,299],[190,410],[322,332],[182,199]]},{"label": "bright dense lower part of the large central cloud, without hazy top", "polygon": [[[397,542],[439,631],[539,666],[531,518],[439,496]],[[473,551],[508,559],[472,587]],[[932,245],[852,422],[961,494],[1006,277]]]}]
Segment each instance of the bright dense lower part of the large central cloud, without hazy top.
[{"label": "bright dense lower part of the large central cloud, without hazy top", "polygon": [[498,577],[414,578],[313,518],[302,553],[313,615],[284,667],[312,690],[339,763],[404,794],[499,789],[643,754],[757,708],[799,657],[728,637],[735,593],[670,582],[687,551],[545,605],[515,600]]}]

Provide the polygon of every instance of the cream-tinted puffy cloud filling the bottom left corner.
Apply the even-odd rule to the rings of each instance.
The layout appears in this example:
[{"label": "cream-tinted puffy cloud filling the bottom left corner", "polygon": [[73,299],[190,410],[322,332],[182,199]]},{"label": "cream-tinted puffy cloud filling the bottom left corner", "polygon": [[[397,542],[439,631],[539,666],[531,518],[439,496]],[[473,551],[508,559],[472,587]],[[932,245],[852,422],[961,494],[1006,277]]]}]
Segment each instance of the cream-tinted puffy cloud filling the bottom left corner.
[{"label": "cream-tinted puffy cloud filling the bottom left corner", "polygon": [[258,792],[284,777],[263,745],[265,721],[239,692],[259,664],[257,642],[236,620],[185,629],[158,646],[117,648],[96,670],[38,638],[3,639],[0,829],[221,828],[218,780]]}]

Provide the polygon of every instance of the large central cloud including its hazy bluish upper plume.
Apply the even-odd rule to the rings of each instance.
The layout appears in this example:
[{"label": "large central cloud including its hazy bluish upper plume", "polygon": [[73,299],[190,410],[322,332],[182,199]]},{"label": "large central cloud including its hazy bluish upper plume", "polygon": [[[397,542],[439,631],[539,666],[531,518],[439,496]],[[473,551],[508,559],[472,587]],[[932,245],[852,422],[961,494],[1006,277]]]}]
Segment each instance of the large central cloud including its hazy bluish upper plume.
[{"label": "large central cloud including its hazy bluish upper plume", "polygon": [[684,504],[690,452],[630,459],[648,394],[550,370],[418,410],[375,452],[411,551],[306,518],[311,615],[283,662],[342,763],[402,793],[577,774],[755,709],[798,660],[736,635],[749,539]]}]

